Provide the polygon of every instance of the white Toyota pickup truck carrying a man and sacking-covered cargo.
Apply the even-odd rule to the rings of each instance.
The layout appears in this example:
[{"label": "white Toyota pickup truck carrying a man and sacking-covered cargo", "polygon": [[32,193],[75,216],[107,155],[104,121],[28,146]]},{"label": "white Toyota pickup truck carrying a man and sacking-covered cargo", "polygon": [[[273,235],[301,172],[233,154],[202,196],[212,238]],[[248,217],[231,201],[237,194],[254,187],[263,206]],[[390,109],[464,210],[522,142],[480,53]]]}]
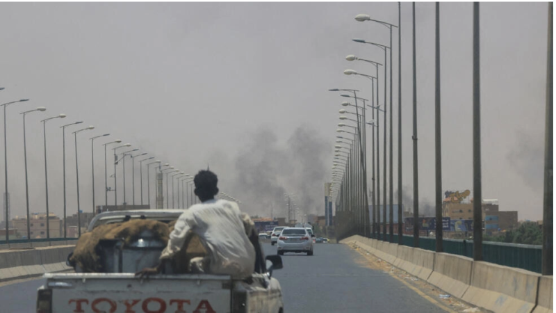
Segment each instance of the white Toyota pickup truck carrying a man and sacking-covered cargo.
[{"label": "white Toyota pickup truck carrying a man and sacking-covered cargo", "polygon": [[[173,209],[106,212],[91,221],[89,231],[134,218],[168,223],[181,213]],[[207,274],[159,274],[143,279],[135,271],[156,265],[152,262],[162,249],[149,246],[148,240],[139,241],[131,250],[114,250],[118,252],[115,261],[109,262],[111,273],[79,273],[77,267],[76,273],[45,274],[46,284],[38,289],[37,313],[284,312],[280,284],[272,278],[272,270],[282,267],[278,255],[266,257],[256,266],[258,273],[247,280]],[[262,259],[259,245],[254,246]]]}]

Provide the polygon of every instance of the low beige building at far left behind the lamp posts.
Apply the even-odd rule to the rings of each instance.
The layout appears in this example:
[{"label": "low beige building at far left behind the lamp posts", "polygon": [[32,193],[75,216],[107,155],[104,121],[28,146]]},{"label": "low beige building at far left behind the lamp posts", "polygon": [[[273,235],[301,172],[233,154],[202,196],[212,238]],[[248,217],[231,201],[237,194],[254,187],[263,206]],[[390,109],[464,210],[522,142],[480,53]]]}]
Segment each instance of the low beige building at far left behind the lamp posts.
[{"label": "low beige building at far left behind the lamp posts", "polygon": [[[20,236],[27,236],[27,216],[24,218],[16,217],[11,223]],[[55,214],[49,214],[49,234],[50,238],[60,238],[63,236],[61,220]],[[29,220],[29,230],[31,239],[47,238],[47,214],[33,213]]]}]

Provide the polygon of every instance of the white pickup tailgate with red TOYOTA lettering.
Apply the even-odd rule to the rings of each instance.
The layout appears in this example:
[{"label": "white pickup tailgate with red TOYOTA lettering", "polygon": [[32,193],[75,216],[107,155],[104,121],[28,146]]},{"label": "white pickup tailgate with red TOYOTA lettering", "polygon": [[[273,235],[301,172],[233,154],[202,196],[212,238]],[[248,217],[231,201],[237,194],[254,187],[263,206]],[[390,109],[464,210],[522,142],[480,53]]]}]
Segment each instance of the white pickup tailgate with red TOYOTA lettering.
[{"label": "white pickup tailgate with red TOYOTA lettering", "polygon": [[53,313],[230,312],[227,275],[45,274]]}]

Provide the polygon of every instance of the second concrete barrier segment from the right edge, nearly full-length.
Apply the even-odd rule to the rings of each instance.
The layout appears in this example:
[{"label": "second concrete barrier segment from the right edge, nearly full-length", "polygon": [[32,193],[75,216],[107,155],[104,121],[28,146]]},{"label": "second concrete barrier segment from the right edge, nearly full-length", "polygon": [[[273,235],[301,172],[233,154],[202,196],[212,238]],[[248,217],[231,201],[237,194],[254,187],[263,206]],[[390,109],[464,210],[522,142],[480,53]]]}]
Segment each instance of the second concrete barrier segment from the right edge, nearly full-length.
[{"label": "second concrete barrier segment from the right edge, nearly full-length", "polygon": [[521,268],[473,262],[463,300],[493,312],[529,313],[537,303],[541,275]]}]

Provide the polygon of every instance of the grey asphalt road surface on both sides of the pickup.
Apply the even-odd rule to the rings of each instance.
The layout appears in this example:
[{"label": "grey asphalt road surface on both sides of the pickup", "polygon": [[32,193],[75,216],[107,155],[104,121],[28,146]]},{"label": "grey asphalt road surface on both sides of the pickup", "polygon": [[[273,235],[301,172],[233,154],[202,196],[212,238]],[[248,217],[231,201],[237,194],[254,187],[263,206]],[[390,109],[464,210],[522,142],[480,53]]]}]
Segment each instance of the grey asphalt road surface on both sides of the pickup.
[{"label": "grey asphalt road surface on both sides of the pickup", "polygon": [[[276,247],[264,243],[265,255]],[[311,257],[286,253],[284,268],[274,272],[284,293],[286,313],[291,312],[445,312],[406,284],[368,261],[349,246],[318,243]],[[42,279],[0,287],[0,312],[34,312],[36,290]]]}]

